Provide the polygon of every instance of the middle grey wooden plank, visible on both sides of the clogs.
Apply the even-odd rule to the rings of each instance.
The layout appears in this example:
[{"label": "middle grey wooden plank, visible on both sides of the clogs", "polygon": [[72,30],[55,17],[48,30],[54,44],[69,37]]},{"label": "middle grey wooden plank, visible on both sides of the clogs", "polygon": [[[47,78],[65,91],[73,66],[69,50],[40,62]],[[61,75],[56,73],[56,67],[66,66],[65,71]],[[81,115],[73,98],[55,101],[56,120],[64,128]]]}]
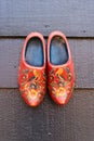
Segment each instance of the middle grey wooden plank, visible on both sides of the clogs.
[{"label": "middle grey wooden plank, visible on both sides of the clogs", "polygon": [[[0,88],[17,88],[24,39],[0,39]],[[94,88],[94,39],[69,39],[75,62],[76,88]]]}]

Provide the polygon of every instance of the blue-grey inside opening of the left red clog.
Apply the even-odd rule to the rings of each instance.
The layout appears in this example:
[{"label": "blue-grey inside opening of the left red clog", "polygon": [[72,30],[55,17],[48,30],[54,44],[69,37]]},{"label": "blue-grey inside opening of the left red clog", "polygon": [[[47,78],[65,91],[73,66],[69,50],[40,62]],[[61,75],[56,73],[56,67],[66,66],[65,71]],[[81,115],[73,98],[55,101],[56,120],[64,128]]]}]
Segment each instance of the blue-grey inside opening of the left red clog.
[{"label": "blue-grey inside opening of the left red clog", "polygon": [[42,66],[44,62],[43,46],[38,37],[29,39],[26,46],[25,60],[32,66]]}]

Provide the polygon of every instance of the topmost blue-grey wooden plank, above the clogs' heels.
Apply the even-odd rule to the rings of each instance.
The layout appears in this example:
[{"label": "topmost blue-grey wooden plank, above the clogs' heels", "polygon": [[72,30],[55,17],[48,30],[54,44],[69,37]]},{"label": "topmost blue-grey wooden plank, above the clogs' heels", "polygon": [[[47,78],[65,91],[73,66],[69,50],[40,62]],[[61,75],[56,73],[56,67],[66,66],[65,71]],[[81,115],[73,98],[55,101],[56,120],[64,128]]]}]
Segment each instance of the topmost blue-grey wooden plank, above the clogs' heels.
[{"label": "topmost blue-grey wooden plank, above the clogs' heels", "polygon": [[48,36],[59,29],[68,37],[94,37],[94,0],[1,0],[0,36]]}]

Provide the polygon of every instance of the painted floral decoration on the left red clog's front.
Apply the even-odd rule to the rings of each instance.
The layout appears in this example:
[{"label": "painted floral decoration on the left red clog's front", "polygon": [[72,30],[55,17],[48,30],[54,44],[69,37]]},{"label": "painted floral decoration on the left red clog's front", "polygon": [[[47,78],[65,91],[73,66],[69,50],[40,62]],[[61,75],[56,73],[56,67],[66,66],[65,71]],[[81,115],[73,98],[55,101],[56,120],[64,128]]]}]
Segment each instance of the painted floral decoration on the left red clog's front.
[{"label": "painted floral decoration on the left red clog's front", "polygon": [[45,73],[38,69],[23,69],[21,75],[21,92],[27,101],[38,101],[45,93]]}]

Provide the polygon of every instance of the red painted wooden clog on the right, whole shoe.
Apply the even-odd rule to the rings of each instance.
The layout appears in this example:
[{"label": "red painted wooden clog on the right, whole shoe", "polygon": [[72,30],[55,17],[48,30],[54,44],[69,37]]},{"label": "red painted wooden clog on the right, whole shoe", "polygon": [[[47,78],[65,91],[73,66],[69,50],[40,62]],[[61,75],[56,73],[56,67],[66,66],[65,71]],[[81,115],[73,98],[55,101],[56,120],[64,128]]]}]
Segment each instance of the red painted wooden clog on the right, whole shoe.
[{"label": "red painted wooden clog on the right, whole shoe", "polygon": [[66,104],[73,90],[75,72],[65,35],[53,31],[48,39],[48,87],[57,104]]}]

